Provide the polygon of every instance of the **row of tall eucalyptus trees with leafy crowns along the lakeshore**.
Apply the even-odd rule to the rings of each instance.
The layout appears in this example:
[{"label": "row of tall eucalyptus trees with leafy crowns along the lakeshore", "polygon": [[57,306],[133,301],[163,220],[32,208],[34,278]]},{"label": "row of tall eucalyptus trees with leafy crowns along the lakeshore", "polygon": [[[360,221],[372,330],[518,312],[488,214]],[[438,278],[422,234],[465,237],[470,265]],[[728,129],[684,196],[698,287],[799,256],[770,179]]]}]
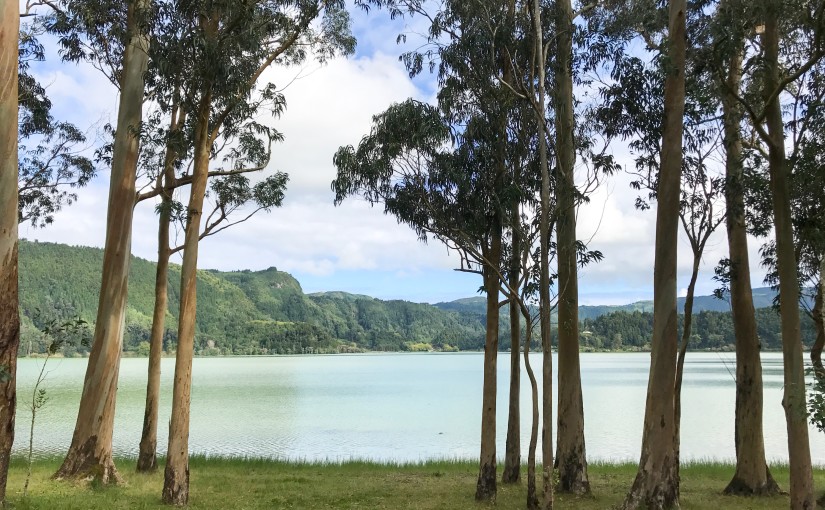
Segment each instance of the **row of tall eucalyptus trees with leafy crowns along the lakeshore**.
[{"label": "row of tall eucalyptus trees with leafy crowns along the lakeshore", "polygon": [[[552,508],[556,490],[591,490],[579,371],[586,331],[579,321],[578,270],[609,254],[580,239],[577,209],[611,175],[629,171],[639,192],[635,205],[645,210],[655,204],[656,237],[642,448],[622,508],[679,506],[683,364],[690,345],[706,341],[698,326],[710,319],[699,314],[694,320],[695,285],[708,239],[722,224],[729,256],[715,272],[730,294],[737,384],[736,466],[725,491],[780,490],[764,452],[761,346],[747,246],[747,234],[773,233],[761,256],[779,289],[790,504],[813,508],[798,309],[803,289],[813,289],[814,305],[807,310],[816,329],[812,363],[815,376],[825,377],[820,360],[825,2],[359,0],[355,5],[377,7],[375,16],[424,20],[424,40],[400,59],[411,76],[432,71],[437,94],[433,104],[410,99],[390,105],[374,117],[360,142],[336,152],[334,200],[360,196],[381,204],[422,240],[434,238],[458,253],[458,269],[482,279],[485,358],[476,499],[494,500],[497,490],[502,306],[512,318],[513,374],[502,482],[520,479],[523,363],[532,390],[528,508]],[[44,218],[48,223],[50,211],[71,201],[65,186],[80,186],[93,173],[87,162],[63,157],[67,154],[59,148],[45,161],[63,166],[39,164],[37,155],[48,153],[49,144],[65,147],[79,140],[53,129],[47,101],[30,100],[43,99],[43,89],[27,78],[20,56],[38,55],[36,35],[43,30],[57,37],[64,60],[91,62],[120,91],[117,123],[108,128],[111,143],[97,158],[111,168],[111,187],[95,331],[75,433],[56,477],[121,479],[111,440],[128,315],[132,215],[137,204],[154,200],[159,263],[138,468],[156,468],[159,359],[169,295],[177,293],[162,499],[186,504],[196,310],[208,305],[208,298],[198,300],[198,241],[243,221],[248,216],[242,211],[281,204],[285,174],[276,172],[254,185],[248,177],[268,166],[271,146],[282,138],[271,124],[259,122],[265,113],[277,117],[285,105],[281,91],[260,82],[261,75],[272,65],[304,61],[307,48],[322,60],[350,54],[355,40],[349,13],[333,0],[32,0],[24,13],[8,1],[2,6],[0,75],[11,79],[0,87],[0,390],[5,396],[0,487],[5,490],[13,441],[20,339],[17,222]],[[42,16],[24,24],[24,37],[15,41],[21,14],[26,19],[39,9]],[[21,122],[27,119],[31,122]],[[35,120],[39,127],[29,129]],[[35,149],[34,159],[21,153],[19,143],[33,133],[46,144]],[[620,144],[631,154],[631,168],[614,156]],[[27,166],[31,161],[35,164]],[[27,168],[43,169],[45,184],[27,184]],[[42,213],[25,212],[27,204],[41,206]],[[185,232],[180,246],[170,245],[171,224]],[[680,228],[692,252],[681,330]],[[171,287],[168,261],[178,251],[180,283]],[[372,312],[364,310],[370,320],[380,321]],[[301,314],[300,307],[294,313]],[[540,378],[528,355],[534,331],[543,353]],[[557,367],[550,356],[554,342]],[[539,428],[542,437],[551,438],[554,425],[556,444],[542,441],[539,463]]]}]

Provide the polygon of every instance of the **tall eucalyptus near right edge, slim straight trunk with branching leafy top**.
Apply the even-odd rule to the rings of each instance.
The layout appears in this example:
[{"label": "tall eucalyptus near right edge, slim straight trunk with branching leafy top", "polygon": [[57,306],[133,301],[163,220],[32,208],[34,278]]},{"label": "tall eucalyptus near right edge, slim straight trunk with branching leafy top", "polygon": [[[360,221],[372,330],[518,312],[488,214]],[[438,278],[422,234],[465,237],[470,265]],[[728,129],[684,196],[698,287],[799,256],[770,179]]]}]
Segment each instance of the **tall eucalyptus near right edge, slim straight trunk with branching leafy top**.
[{"label": "tall eucalyptus near right edge, slim straight trunk with branching leafy top", "polygon": [[[825,55],[825,3],[778,2],[736,3],[732,15],[739,25],[753,28],[754,58],[749,88],[736,94],[754,131],[757,144],[764,144],[768,166],[772,225],[775,233],[775,260],[779,281],[779,306],[782,323],[784,395],[782,405],[788,429],[790,495],[792,508],[813,508],[813,478],[808,427],[805,419],[805,374],[798,312],[798,264],[794,249],[792,160],[787,155],[788,137],[783,117],[783,101]],[[736,20],[736,18],[734,18]],[[730,28],[720,24],[718,41]],[[735,23],[728,24],[737,27]],[[741,30],[741,28],[739,29]],[[798,126],[791,133],[796,137]],[[756,144],[754,144],[756,145]],[[766,194],[767,195],[767,194]]]}]

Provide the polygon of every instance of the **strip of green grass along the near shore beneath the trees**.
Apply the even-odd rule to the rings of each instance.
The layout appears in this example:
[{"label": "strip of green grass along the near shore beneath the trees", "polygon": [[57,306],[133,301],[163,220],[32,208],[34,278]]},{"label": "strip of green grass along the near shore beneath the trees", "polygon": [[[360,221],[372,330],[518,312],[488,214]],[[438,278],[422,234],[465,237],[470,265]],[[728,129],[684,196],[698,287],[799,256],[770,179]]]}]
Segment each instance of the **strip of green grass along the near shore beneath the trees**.
[{"label": "strip of green grass along the near shore beneath the trees", "polygon": [[[35,462],[29,494],[23,497],[26,464],[12,464],[8,499],[17,509],[110,510],[168,508],[160,503],[162,468],[151,475],[134,473],[134,461],[120,460],[126,479],[120,486],[101,487],[88,482],[49,479],[59,459]],[[477,466],[472,462],[426,462],[387,465],[366,462],[344,464],[294,463],[270,460],[193,458],[190,463],[192,509],[478,509],[473,500]],[[783,488],[788,487],[786,466],[772,468]],[[631,464],[593,464],[593,496],[557,495],[557,508],[604,510],[621,502],[636,467]],[[682,508],[787,508],[788,497],[741,498],[723,496],[732,466],[697,463],[682,468]],[[524,476],[524,472],[522,476]],[[540,483],[540,482],[539,482]],[[823,487],[825,471],[814,473]],[[496,509],[525,508],[526,483],[499,485]]]}]

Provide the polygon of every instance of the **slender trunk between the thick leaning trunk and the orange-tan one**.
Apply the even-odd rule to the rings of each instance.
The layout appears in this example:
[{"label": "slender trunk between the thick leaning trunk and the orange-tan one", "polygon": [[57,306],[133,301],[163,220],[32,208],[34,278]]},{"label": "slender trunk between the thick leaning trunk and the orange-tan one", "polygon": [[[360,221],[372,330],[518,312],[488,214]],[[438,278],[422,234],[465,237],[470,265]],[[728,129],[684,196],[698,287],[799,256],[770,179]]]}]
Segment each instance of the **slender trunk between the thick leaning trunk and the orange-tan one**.
[{"label": "slender trunk between the thick leaning trunk and the orange-tan one", "polygon": [[[177,110],[175,110],[177,111]],[[172,131],[180,129],[175,113],[172,114]],[[149,368],[146,380],[146,407],[143,413],[143,430],[140,436],[137,471],[146,473],[157,469],[158,403],[160,401],[160,360],[163,353],[163,333],[166,328],[166,310],[169,301],[169,222],[171,220],[172,193],[175,180],[174,164],[177,152],[167,143],[163,162],[163,191],[158,215],[158,264],[155,271],[155,308],[152,315],[152,336],[149,341]]]}]

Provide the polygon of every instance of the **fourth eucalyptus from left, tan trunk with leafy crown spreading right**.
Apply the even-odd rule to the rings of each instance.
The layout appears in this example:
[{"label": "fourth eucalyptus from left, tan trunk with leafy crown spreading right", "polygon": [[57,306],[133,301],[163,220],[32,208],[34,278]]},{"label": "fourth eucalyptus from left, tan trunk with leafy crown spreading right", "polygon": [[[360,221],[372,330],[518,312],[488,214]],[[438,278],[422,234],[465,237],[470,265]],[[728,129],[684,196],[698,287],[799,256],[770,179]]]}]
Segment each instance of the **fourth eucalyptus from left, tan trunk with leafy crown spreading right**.
[{"label": "fourth eucalyptus from left, tan trunk with leafy crown spreading right", "polygon": [[[182,58],[193,64],[185,108],[191,122],[193,154],[181,267],[178,348],[164,472],[163,501],[185,505],[189,499],[189,403],[195,335],[196,272],[204,199],[212,151],[220,136],[237,133],[262,104],[277,97],[273,84],[259,87],[272,64],[302,62],[307,46],[321,58],[350,53],[355,41],[340,1],[181,2],[178,15],[187,27]],[[321,20],[320,28],[313,23]],[[260,97],[260,103],[250,98]],[[253,157],[259,156],[259,153]],[[260,165],[262,161],[253,161]],[[246,161],[243,161],[245,164]],[[285,184],[285,182],[284,182]],[[282,189],[274,191],[282,193]],[[280,203],[276,197],[274,203]]]}]

